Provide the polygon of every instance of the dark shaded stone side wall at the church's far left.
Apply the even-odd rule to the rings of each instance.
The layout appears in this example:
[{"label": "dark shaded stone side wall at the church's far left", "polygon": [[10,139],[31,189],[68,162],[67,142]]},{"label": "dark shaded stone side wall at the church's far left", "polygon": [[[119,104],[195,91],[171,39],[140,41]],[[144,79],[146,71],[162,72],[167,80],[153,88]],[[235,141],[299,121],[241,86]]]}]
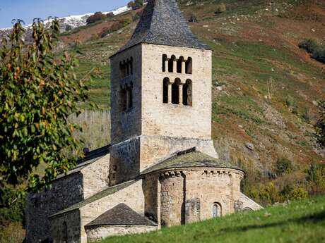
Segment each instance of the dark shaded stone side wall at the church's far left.
[{"label": "dark shaded stone side wall at the church's far left", "polygon": [[26,199],[26,240],[40,242],[50,237],[51,216],[83,200],[83,175],[73,173],[55,180],[52,189],[29,194]]}]

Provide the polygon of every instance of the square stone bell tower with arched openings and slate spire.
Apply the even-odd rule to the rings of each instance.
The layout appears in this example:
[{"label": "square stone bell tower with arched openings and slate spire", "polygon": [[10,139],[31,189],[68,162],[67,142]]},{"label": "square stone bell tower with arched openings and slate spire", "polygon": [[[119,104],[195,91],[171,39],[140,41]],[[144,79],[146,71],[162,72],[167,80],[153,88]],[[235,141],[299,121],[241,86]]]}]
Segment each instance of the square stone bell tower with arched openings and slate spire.
[{"label": "square stone bell tower with arched openings and slate spire", "polygon": [[110,185],[177,151],[218,158],[211,139],[211,56],[175,0],[150,0],[111,60]]}]

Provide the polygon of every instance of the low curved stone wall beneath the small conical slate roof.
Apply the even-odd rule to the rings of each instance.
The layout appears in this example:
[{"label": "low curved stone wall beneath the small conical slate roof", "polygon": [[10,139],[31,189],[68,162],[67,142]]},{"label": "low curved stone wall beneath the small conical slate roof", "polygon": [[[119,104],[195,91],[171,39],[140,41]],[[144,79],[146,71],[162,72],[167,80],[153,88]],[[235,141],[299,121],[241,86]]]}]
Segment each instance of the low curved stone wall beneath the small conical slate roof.
[{"label": "low curved stone wall beneath the small conical slate roof", "polygon": [[86,231],[87,231],[88,243],[89,243],[89,242],[96,242],[113,235],[140,234],[140,233],[150,232],[153,230],[157,230],[157,226],[103,225],[98,228],[89,228]]}]

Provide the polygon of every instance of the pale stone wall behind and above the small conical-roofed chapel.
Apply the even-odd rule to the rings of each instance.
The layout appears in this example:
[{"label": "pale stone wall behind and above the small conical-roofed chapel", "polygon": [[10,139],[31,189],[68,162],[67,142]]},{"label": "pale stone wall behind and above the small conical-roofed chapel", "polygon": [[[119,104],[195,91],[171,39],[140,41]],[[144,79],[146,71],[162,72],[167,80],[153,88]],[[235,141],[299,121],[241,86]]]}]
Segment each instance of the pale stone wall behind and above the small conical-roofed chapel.
[{"label": "pale stone wall behind and above the small conical-roofed chapel", "polygon": [[126,187],[114,194],[107,197],[98,199],[91,204],[85,205],[80,208],[81,211],[81,243],[87,242],[87,235],[85,233],[85,225],[98,218],[106,211],[114,208],[118,204],[126,204],[134,211],[144,216],[144,194],[143,182],[138,180],[134,184]]}]

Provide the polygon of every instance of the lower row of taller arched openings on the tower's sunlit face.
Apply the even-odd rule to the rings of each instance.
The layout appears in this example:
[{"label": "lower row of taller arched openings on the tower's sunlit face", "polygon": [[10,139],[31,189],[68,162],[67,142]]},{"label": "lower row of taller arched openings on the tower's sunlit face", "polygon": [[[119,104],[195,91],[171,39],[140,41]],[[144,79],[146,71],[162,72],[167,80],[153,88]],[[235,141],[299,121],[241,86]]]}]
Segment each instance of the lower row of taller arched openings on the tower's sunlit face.
[{"label": "lower row of taller arched openings on the tower's sunlit face", "polygon": [[192,81],[184,83],[178,77],[171,82],[168,77],[162,81],[162,103],[192,106]]}]

